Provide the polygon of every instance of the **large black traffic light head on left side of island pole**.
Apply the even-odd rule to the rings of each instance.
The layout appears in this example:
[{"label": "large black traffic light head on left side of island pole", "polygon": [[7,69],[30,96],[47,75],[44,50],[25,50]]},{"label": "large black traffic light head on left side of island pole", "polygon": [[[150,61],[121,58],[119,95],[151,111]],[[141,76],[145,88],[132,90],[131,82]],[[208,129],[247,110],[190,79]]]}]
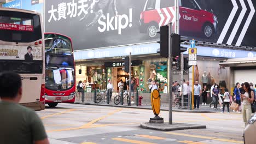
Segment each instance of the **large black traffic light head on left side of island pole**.
[{"label": "large black traffic light head on left side of island pole", "polygon": [[161,26],[160,31],[160,41],[157,41],[160,44],[160,50],[158,53],[160,53],[161,57],[168,57],[169,52],[169,41],[168,41],[168,33],[169,33],[169,27],[168,26]]}]

